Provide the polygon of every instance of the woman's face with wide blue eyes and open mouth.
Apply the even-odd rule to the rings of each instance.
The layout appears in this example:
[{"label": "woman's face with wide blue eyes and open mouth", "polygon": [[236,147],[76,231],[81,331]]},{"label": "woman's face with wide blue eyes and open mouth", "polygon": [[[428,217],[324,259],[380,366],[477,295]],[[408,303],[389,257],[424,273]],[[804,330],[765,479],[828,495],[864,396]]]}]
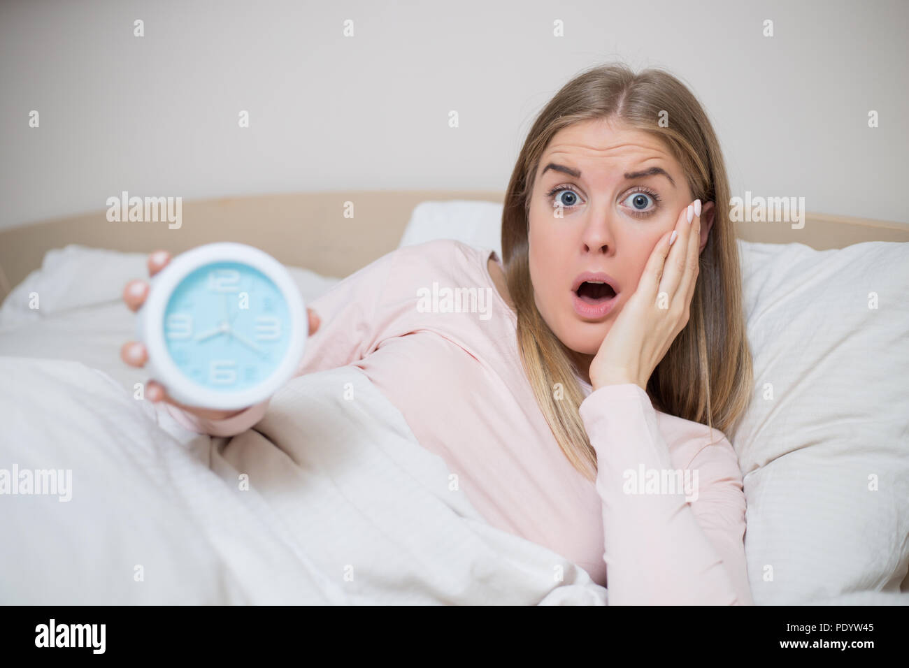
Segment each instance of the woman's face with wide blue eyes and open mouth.
[{"label": "woman's face with wide blue eyes and open mouth", "polygon": [[[651,170],[661,171],[642,174]],[[658,139],[602,120],[556,134],[535,178],[528,232],[534,301],[585,374],[654,246],[674,228],[692,194],[682,168]],[[550,195],[556,188],[561,192]],[[702,212],[702,250],[709,217]],[[608,313],[577,306],[581,298],[573,287],[584,272],[613,279],[616,294]]]}]

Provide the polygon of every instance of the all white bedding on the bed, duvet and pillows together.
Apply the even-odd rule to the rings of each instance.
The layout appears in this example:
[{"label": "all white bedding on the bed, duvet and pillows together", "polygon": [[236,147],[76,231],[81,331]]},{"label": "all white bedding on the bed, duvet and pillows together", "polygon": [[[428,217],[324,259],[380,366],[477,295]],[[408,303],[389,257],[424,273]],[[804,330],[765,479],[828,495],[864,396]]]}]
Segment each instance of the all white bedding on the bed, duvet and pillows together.
[{"label": "all white bedding on the bed, duvet and pillows together", "polygon": [[[495,248],[500,212],[427,203],[399,243]],[[909,243],[740,249],[756,393],[727,435],[755,603],[909,604]],[[307,301],[345,275],[291,268]],[[607,603],[448,492],[353,367],[295,379],[230,440],[136,401],[120,292],[144,275],[145,253],[67,244],[0,307],[0,468],[73,476],[69,501],[0,496],[0,603]]]}]

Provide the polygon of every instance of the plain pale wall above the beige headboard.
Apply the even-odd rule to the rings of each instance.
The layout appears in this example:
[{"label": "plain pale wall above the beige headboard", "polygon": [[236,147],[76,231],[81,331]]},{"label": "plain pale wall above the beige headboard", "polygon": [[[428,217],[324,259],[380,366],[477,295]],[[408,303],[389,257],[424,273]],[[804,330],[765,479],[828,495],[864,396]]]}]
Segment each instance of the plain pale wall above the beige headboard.
[{"label": "plain pale wall above the beige headboard", "polygon": [[124,190],[501,191],[545,102],[614,59],[692,88],[734,195],[909,224],[906,25],[903,0],[6,0],[0,227]]}]

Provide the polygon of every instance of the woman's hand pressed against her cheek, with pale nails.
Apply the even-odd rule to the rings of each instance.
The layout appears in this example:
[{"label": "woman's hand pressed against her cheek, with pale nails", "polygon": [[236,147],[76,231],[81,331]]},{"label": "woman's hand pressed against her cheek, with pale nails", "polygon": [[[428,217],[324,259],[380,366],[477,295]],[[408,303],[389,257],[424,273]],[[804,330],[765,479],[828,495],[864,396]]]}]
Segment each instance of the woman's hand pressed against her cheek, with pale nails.
[{"label": "woman's hand pressed against her cheek, with pale nails", "polygon": [[[691,223],[689,224],[689,211]],[[688,323],[701,245],[701,202],[686,206],[675,223],[670,244],[664,234],[644,267],[644,274],[615,318],[590,364],[594,390],[603,385],[647,381],[675,337]]]}]

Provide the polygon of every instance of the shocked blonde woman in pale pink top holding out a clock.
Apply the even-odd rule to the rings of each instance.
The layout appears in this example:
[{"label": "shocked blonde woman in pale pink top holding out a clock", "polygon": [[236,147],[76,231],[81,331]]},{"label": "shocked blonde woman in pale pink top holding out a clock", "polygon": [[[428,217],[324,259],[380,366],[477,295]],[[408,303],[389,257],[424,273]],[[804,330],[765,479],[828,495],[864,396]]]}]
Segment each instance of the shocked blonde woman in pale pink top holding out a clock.
[{"label": "shocked blonde woman in pale pink top holding out a clock", "polygon": [[[610,603],[751,604],[723,434],[752,385],[728,201],[694,95],[659,70],[595,67],[524,142],[504,264],[454,241],[386,254],[312,304],[297,374],[362,369],[489,523],[582,566]],[[167,260],[153,254],[150,272]],[[434,283],[488,288],[493,313],[418,308]],[[146,292],[131,282],[125,301]],[[145,364],[141,344],[122,356]],[[213,435],[267,405],[184,406],[154,382],[146,396]]]}]

